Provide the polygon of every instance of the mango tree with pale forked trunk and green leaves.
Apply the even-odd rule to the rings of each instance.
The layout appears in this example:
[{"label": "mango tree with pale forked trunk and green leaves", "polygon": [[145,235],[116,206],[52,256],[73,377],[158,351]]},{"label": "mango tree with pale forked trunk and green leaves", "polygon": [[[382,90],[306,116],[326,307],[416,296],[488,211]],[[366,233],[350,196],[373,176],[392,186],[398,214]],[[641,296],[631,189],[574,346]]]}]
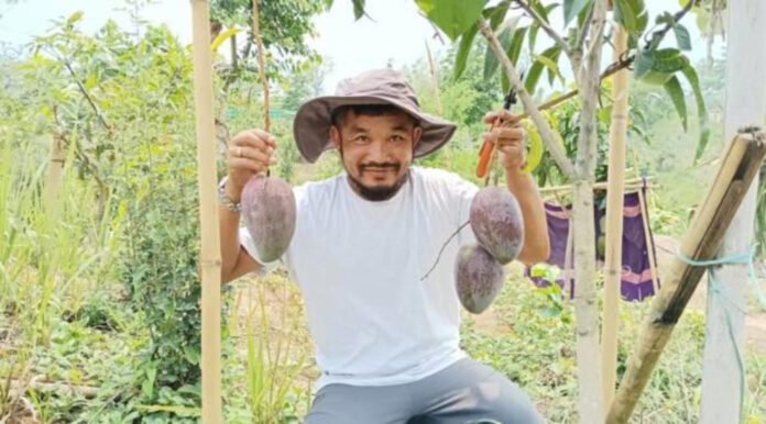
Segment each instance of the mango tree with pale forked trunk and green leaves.
[{"label": "mango tree with pale forked trunk and green leaves", "polygon": [[[697,100],[700,140],[696,157],[708,143],[707,113],[697,72],[682,51],[691,48],[687,29],[679,22],[692,8],[689,0],[677,13],[649,15],[644,0],[614,0],[612,12],[606,0],[416,0],[423,14],[451,41],[459,43],[456,77],[464,69],[475,36],[486,40],[485,77],[493,78],[502,66],[503,89],[514,87],[525,114],[534,122],[550,156],[572,185],[574,267],[577,293],[577,355],[580,382],[580,422],[603,422],[601,378],[599,368],[599,308],[595,292],[595,246],[593,217],[593,181],[597,163],[597,112],[602,78],[616,70],[631,68],[635,79],[661,85],[669,94],[681,124],[687,127],[687,103],[681,80],[686,79]],[[331,0],[328,3],[332,3]],[[364,13],[364,0],[352,0],[357,19]],[[560,13],[560,20],[554,13]],[[602,51],[610,47],[610,32],[622,26],[628,34],[628,48],[620,59],[602,71]],[[545,37],[539,36],[540,32]],[[672,34],[675,46],[660,48]],[[538,43],[546,43],[538,47]],[[518,71],[522,52],[526,51],[528,68]],[[578,87],[580,125],[576,157],[570,159],[558,142],[558,135],[540,113],[533,98],[544,71],[549,79],[563,79],[562,66],[573,76],[570,85]],[[569,94],[568,97],[572,97]],[[552,102],[556,103],[556,102]]]}]

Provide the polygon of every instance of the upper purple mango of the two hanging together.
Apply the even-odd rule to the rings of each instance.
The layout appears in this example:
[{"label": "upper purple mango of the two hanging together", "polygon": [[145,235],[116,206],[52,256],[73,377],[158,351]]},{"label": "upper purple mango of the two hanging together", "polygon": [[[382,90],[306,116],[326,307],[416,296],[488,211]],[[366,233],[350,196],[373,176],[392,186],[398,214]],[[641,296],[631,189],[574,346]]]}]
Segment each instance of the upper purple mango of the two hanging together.
[{"label": "upper purple mango of the two hanging together", "polygon": [[524,216],[505,188],[479,190],[471,202],[471,228],[479,244],[503,265],[514,260],[524,245]]}]

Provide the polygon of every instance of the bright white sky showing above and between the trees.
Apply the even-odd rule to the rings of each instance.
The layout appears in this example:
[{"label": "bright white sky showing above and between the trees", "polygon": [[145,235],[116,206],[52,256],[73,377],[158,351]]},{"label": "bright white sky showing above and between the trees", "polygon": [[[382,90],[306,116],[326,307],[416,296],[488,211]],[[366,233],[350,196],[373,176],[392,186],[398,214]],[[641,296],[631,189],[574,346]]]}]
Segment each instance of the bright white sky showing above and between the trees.
[{"label": "bright white sky showing above and between the trees", "polygon": [[[317,0],[319,1],[319,0]],[[44,34],[53,26],[53,20],[85,12],[80,27],[97,31],[108,19],[125,29],[132,29],[124,0],[15,0],[7,4],[0,0],[0,43],[4,48],[20,48],[34,35]],[[677,1],[646,0],[654,16],[664,10],[679,8]],[[192,12],[188,0],[156,0],[142,10],[142,18],[152,23],[164,23],[184,43],[192,40]],[[331,92],[336,83],[365,69],[409,65],[426,55],[426,43],[434,52],[447,45],[434,38],[435,30],[418,13],[413,0],[366,0],[369,19],[354,22],[351,2],[336,0],[332,9],[316,18],[318,37],[309,41],[319,54],[329,59],[332,70],[326,77],[325,91]],[[560,14],[560,11],[557,13]],[[705,55],[699,41],[699,30],[690,16],[687,27],[697,48],[690,53],[692,62]],[[448,40],[445,37],[445,43]],[[538,43],[543,45],[543,37]],[[720,43],[719,43],[720,44]],[[715,49],[720,52],[720,47]]]}]

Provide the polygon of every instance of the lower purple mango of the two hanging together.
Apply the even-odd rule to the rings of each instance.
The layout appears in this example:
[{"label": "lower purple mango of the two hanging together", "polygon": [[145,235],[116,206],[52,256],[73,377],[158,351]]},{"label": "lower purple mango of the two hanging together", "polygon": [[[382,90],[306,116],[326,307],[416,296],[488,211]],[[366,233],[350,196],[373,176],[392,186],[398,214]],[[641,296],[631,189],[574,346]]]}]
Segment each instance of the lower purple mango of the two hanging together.
[{"label": "lower purple mango of the two hanging together", "polygon": [[471,313],[482,313],[503,288],[503,266],[479,245],[462,246],[455,264],[458,298]]}]

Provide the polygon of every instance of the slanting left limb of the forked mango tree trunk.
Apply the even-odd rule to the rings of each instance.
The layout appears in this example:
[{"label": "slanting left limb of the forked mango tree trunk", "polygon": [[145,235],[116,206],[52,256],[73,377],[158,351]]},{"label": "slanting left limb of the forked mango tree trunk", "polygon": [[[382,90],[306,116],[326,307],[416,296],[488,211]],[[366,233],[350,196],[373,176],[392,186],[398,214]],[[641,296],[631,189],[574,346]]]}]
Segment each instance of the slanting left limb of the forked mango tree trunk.
[{"label": "slanting left limb of the forked mango tree trunk", "polygon": [[535,104],[535,100],[532,99],[529,93],[524,88],[522,79],[518,76],[518,71],[513,66],[513,63],[508,58],[507,54],[505,54],[503,46],[500,44],[500,41],[497,41],[497,36],[494,34],[486,20],[484,20],[483,18],[479,19],[479,31],[481,31],[482,35],[490,43],[490,47],[494,52],[495,56],[497,56],[500,63],[503,65],[503,68],[505,69],[505,75],[508,77],[508,80],[511,80],[511,83],[516,89],[518,98],[522,100],[522,104],[524,104],[524,110],[526,111],[526,113],[529,114],[529,118],[532,118],[532,121],[535,123],[538,131],[540,132],[540,137],[543,138],[543,142],[545,143],[548,150],[550,150],[550,155],[556,160],[556,164],[559,166],[563,175],[573,181],[576,176],[574,167],[569,161],[563,150],[557,143],[556,136],[554,135],[550,125],[548,125],[548,121],[546,121],[545,118],[543,118],[543,114],[537,109],[537,104]]}]

